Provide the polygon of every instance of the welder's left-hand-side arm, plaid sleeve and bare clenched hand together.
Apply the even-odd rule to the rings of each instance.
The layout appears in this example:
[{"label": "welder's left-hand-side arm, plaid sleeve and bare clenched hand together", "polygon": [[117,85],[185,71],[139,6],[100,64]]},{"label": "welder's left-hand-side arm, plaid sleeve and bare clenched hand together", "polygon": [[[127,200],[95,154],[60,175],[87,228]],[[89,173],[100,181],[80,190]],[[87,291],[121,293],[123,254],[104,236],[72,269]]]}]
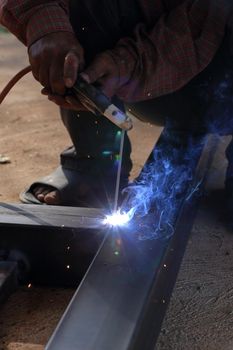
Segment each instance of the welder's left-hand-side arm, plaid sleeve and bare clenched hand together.
[{"label": "welder's left-hand-side arm, plaid sleeve and bare clenched hand together", "polygon": [[69,21],[69,0],[0,0],[0,23],[28,46],[34,77],[63,95],[84,66],[84,53]]}]

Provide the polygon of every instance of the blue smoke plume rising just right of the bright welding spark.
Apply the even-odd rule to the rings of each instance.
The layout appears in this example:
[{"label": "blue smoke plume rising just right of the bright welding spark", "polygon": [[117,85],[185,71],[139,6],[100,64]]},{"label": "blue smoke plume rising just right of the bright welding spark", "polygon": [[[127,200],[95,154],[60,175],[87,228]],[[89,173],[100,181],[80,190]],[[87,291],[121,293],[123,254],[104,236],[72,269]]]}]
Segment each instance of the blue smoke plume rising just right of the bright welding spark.
[{"label": "blue smoke plume rising just right of the bright welding spark", "polygon": [[173,234],[183,201],[199,186],[193,179],[202,144],[203,138],[165,130],[136,183],[125,189],[125,206],[141,223],[141,240]]}]

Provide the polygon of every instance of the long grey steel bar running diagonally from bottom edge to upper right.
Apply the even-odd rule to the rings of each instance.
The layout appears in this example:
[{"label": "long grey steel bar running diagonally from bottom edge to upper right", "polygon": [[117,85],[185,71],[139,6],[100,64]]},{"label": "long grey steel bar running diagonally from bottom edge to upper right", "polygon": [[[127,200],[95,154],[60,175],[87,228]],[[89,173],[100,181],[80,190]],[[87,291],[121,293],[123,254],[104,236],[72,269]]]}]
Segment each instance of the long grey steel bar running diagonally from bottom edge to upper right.
[{"label": "long grey steel bar running diagonally from bottom edge to upper right", "polygon": [[[204,177],[216,149],[203,144],[194,186]],[[143,225],[109,229],[46,350],[152,350],[185,251],[198,203],[184,199],[174,233],[140,240]]]}]

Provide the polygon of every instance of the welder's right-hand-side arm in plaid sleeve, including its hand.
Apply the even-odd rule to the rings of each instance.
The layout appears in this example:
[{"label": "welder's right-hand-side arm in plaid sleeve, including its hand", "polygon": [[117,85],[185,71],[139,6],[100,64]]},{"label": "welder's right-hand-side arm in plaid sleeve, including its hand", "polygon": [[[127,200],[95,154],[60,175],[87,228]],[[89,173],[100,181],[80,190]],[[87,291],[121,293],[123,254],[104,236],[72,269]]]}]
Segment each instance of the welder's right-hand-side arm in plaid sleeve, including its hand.
[{"label": "welder's right-hand-side arm in plaid sleeve, including its hand", "polygon": [[139,24],[132,37],[97,57],[86,71],[89,81],[102,79],[108,95],[116,93],[131,102],[181,88],[210,63],[220,47],[231,2],[186,0],[163,15],[154,28]]}]

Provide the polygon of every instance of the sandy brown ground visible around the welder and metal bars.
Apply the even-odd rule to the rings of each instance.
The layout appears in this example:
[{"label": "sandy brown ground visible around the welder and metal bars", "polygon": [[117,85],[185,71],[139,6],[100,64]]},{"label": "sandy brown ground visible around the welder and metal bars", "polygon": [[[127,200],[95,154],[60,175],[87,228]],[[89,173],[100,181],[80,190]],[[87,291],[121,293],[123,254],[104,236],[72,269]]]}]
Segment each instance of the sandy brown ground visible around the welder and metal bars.
[{"label": "sandy brown ground visible around the welder and metal bars", "polygon": [[[28,63],[25,48],[13,36],[1,34],[0,49],[1,90]],[[57,166],[60,151],[70,141],[57,107],[40,95],[40,86],[31,76],[25,77],[0,107],[0,122],[0,154],[11,160],[0,164],[0,201],[18,202],[18,193],[25,186]],[[135,122],[130,133],[132,177],[160,132]],[[211,171],[209,192],[199,209],[158,350],[233,349],[233,235],[223,225],[222,203],[213,192],[223,186],[226,143],[227,139],[221,141]],[[73,292],[20,288],[0,309],[0,350],[42,350]]]}]

